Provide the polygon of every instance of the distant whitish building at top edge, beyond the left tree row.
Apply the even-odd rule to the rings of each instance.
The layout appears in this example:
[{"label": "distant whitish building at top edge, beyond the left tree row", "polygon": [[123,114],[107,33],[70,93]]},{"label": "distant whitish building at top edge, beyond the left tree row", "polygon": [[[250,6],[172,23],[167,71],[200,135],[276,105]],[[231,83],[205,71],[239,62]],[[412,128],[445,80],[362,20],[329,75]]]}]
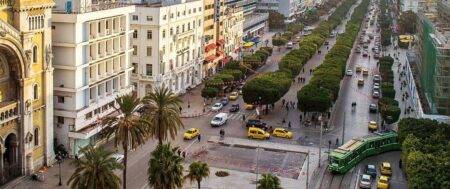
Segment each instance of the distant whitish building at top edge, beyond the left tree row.
[{"label": "distant whitish building at top edge, beyond the left tree row", "polygon": [[291,19],[303,10],[302,1],[304,0],[260,0],[257,10],[262,13],[277,11],[287,19]]}]

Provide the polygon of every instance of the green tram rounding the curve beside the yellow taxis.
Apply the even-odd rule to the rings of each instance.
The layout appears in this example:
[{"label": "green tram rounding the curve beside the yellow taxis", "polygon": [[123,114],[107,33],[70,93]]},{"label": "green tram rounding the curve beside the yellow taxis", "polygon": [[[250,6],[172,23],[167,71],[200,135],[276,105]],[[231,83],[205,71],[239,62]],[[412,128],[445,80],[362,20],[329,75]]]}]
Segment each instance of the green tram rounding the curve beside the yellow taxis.
[{"label": "green tram rounding the curve beside the yellow taxis", "polygon": [[352,139],[330,153],[328,169],[332,173],[344,174],[366,157],[394,150],[400,150],[395,131]]}]

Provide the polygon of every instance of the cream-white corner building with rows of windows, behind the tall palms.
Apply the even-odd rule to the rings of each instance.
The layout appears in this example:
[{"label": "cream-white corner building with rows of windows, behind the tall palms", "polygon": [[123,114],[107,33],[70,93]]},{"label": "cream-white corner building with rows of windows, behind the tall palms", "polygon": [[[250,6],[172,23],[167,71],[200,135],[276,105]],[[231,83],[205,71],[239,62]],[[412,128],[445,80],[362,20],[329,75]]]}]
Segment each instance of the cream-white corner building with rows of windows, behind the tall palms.
[{"label": "cream-white corner building with rows of windows, behind the tall palms", "polygon": [[165,85],[175,93],[203,78],[203,0],[145,3],[132,14],[132,80],[139,97]]}]

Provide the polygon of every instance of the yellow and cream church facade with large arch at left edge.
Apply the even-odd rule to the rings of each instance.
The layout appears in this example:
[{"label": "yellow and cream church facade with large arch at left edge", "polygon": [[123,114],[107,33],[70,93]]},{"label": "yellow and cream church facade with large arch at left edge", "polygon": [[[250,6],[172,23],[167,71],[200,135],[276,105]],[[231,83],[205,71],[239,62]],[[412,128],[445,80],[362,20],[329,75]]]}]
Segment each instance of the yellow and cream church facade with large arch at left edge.
[{"label": "yellow and cream church facade with large arch at left edge", "polygon": [[0,185],[54,160],[53,1],[0,1]]}]

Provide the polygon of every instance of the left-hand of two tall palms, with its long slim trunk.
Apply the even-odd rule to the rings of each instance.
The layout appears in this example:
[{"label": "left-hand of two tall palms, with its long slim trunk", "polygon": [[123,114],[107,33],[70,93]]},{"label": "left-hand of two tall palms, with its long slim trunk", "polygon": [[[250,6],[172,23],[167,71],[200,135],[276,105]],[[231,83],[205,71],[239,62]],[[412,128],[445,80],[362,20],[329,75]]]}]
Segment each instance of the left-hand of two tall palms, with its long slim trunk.
[{"label": "left-hand of two tall palms, with its long slim trunk", "polygon": [[134,95],[125,95],[116,99],[118,104],[117,111],[121,116],[108,116],[103,118],[102,122],[105,126],[103,135],[109,139],[114,136],[114,144],[116,147],[122,146],[123,158],[123,188],[126,189],[127,184],[127,161],[128,150],[136,148],[144,144],[149,136],[150,122],[140,117],[136,113],[140,100]]}]

